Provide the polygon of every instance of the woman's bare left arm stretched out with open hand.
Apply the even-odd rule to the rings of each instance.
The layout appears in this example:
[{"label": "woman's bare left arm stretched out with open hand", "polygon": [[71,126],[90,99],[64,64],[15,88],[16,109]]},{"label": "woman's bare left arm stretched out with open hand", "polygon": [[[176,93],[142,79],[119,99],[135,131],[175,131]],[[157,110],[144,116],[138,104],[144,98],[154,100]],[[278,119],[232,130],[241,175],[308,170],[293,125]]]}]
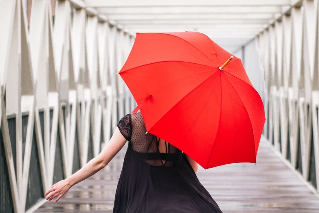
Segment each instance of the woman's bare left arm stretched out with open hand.
[{"label": "woman's bare left arm stretched out with open hand", "polygon": [[70,177],[51,186],[51,189],[45,193],[45,196],[48,195],[46,199],[52,200],[59,195],[55,200],[55,202],[57,202],[72,186],[100,171],[108,165],[112,158],[121,150],[125,142],[126,139],[121,134],[118,127],[116,127],[110,141],[102,149],[101,153]]}]

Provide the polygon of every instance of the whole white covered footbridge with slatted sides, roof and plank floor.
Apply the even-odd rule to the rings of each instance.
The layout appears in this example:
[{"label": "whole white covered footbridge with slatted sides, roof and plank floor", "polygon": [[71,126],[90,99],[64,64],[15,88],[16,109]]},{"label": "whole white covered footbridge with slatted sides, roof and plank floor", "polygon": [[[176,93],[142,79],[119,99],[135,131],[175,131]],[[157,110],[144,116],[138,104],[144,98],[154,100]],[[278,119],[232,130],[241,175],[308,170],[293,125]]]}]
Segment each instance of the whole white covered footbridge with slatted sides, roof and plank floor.
[{"label": "whole white covered footbridge with slatted sides, roof and plank floor", "polygon": [[136,103],[136,32],[198,31],[240,57],[265,108],[256,164],[197,176],[223,212],[319,212],[317,0],[0,0],[0,212],[112,212],[126,148],[57,203]]}]

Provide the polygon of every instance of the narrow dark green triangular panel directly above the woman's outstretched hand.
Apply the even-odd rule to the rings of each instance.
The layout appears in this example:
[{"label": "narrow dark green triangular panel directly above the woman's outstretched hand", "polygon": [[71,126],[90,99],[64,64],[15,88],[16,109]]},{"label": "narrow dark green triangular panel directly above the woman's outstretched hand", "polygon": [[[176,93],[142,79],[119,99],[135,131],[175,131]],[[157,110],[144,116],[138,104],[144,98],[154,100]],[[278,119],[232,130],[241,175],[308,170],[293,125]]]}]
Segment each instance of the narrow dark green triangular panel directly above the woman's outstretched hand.
[{"label": "narrow dark green triangular panel directly above the woman's outstretched hand", "polygon": [[60,128],[58,123],[57,134],[56,134],[56,155],[54,160],[53,183],[56,183],[63,179],[64,179],[64,173],[63,173],[63,161],[62,161],[62,148],[61,148]]}]

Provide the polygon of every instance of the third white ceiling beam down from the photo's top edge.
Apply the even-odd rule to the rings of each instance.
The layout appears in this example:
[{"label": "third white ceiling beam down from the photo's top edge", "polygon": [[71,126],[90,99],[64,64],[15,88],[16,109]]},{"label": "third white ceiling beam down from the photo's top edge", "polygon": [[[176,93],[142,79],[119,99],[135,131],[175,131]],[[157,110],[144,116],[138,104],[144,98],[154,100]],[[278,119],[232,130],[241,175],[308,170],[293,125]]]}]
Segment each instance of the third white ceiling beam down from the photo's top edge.
[{"label": "third white ceiling beam down from the photo's top edge", "polygon": [[169,14],[169,15],[107,15],[109,20],[269,20],[274,19],[276,14]]}]

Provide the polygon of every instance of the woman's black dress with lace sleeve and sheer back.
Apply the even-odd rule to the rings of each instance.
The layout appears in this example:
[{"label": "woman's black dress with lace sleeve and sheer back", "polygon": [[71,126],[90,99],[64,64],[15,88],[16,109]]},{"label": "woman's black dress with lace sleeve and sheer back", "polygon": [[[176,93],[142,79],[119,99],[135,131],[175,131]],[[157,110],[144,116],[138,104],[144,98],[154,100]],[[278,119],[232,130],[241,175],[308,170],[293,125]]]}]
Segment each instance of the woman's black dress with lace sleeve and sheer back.
[{"label": "woman's black dress with lace sleeve and sheer back", "polygon": [[168,144],[167,154],[159,153],[158,139],[145,134],[140,112],[127,114],[117,127],[129,145],[113,212],[222,212],[181,150]]}]

